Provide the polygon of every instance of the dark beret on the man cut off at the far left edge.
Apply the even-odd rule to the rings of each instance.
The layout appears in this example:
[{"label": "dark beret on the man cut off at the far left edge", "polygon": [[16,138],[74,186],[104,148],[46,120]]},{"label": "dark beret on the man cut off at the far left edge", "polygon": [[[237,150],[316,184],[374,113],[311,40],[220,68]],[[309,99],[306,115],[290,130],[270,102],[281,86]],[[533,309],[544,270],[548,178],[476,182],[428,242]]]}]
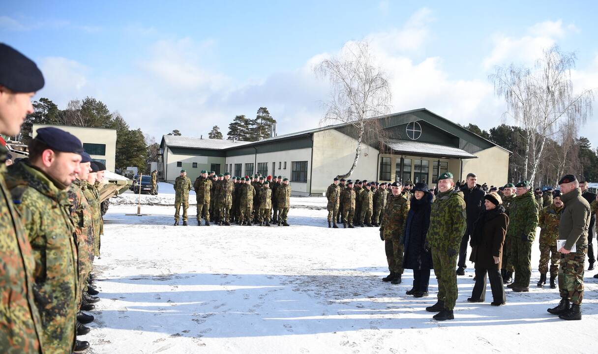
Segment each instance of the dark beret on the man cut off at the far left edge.
[{"label": "dark beret on the man cut off at the far left edge", "polygon": [[31,59],[0,43],[0,85],[15,92],[35,92],[44,87],[44,75]]}]

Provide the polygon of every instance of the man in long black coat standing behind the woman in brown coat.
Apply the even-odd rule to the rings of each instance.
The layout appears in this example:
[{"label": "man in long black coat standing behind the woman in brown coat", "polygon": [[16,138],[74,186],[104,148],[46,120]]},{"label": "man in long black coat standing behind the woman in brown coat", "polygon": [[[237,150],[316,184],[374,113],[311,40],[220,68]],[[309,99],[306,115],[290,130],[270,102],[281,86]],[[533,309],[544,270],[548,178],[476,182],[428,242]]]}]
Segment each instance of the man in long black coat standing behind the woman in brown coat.
[{"label": "man in long black coat standing behind the woman in brown coat", "polygon": [[457,262],[457,275],[465,275],[465,261],[467,260],[467,247],[469,244],[469,236],[474,232],[474,222],[478,219],[480,212],[485,210],[484,207],[484,196],[486,193],[481,188],[475,173],[468,173],[466,178],[466,184],[461,186],[463,192],[463,199],[465,199],[465,211],[467,213],[467,228],[465,234],[461,240],[459,248],[459,261]]}]

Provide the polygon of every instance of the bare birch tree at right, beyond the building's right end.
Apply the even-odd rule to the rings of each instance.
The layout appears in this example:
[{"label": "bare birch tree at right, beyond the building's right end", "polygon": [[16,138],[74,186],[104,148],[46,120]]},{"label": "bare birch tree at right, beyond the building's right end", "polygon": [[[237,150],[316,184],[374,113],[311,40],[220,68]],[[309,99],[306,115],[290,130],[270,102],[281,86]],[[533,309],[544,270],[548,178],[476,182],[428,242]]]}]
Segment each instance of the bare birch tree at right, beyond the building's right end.
[{"label": "bare birch tree at right, beyond the building's right end", "polygon": [[593,91],[573,91],[575,59],[554,46],[544,50],[533,69],[511,64],[490,75],[496,94],[507,102],[505,115],[526,132],[523,176],[529,181],[536,182],[547,139],[568,124],[581,126],[591,115]]}]

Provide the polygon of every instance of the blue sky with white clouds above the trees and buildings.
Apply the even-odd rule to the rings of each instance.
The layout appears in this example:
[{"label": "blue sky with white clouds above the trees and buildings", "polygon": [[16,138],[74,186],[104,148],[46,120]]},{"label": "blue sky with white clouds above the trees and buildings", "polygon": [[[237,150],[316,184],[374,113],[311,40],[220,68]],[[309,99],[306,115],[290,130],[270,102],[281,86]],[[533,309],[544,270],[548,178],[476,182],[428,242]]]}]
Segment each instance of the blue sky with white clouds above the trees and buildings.
[{"label": "blue sky with white clouds above the trees and buildings", "polygon": [[311,65],[364,38],[389,73],[393,111],[425,106],[489,128],[505,110],[487,80],[495,65],[529,65],[558,44],[578,56],[576,89],[598,87],[596,4],[20,1],[0,5],[0,38],[42,68],[38,97],[61,108],[96,97],[158,141],[172,129],[226,133],[260,106],[279,133],[316,127],[328,87]]}]

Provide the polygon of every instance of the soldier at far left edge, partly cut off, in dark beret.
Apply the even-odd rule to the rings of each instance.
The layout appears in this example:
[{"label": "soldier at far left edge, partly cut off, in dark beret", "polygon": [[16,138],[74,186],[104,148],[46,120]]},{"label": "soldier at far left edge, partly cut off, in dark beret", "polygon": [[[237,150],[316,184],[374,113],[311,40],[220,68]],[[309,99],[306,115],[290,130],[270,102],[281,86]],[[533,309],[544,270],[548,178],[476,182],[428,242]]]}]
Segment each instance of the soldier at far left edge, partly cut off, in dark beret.
[{"label": "soldier at far left edge, partly cut off, in dark beret", "polygon": [[[19,134],[31,98],[44,86],[35,63],[14,48],[0,44],[0,133]],[[0,144],[0,352],[39,353],[42,322],[33,297],[35,258],[26,230],[10,196],[4,175],[8,149]],[[19,164],[19,163],[17,163]]]}]

